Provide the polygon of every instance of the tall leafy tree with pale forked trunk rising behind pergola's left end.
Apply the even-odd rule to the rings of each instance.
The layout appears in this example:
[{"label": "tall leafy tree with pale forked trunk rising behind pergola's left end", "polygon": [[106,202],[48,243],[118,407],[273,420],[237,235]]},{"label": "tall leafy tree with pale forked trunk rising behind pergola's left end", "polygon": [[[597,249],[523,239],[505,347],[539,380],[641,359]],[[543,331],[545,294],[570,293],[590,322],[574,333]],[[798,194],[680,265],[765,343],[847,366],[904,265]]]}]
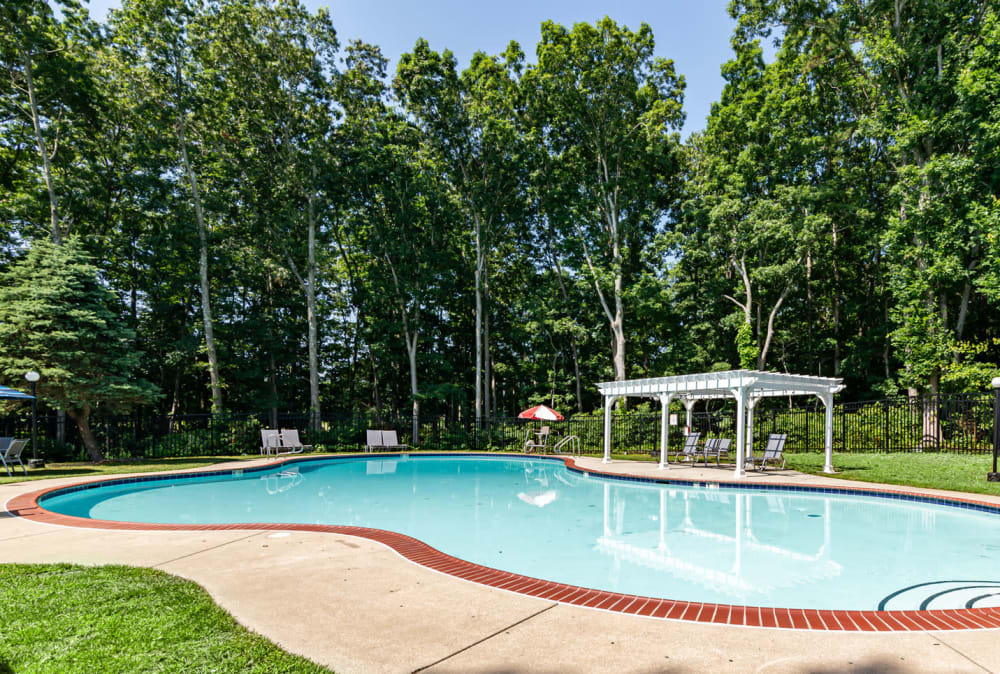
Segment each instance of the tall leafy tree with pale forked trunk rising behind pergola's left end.
[{"label": "tall leafy tree with pale forked trunk rising behind pergola's left end", "polygon": [[610,18],[567,30],[542,24],[525,73],[535,124],[576,195],[556,224],[589,275],[611,334],[616,380],[627,376],[627,285],[645,243],[675,204],[684,78],[653,56],[653,31]]}]

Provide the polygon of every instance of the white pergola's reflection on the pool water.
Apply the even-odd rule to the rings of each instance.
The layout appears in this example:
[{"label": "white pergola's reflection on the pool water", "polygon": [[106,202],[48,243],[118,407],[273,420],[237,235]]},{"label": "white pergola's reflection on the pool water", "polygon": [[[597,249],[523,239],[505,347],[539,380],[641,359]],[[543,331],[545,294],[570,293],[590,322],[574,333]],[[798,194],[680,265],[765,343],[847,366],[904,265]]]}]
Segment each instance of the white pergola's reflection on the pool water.
[{"label": "white pergola's reflection on the pool water", "polygon": [[[637,500],[634,488],[604,484],[604,527],[596,549],[612,557],[618,573],[623,566],[640,566],[737,597],[766,595],[841,574],[841,565],[830,556],[829,498],[819,499],[822,515],[799,520],[800,549],[792,549],[787,543],[768,542],[788,540],[775,536],[774,518],[761,518],[755,530],[753,517],[759,508],[785,513],[789,497],[716,489],[656,491],[658,508],[650,513],[650,506],[655,508],[651,498]],[[630,507],[639,512],[629,512]],[[805,548],[810,540],[813,547]]]}]

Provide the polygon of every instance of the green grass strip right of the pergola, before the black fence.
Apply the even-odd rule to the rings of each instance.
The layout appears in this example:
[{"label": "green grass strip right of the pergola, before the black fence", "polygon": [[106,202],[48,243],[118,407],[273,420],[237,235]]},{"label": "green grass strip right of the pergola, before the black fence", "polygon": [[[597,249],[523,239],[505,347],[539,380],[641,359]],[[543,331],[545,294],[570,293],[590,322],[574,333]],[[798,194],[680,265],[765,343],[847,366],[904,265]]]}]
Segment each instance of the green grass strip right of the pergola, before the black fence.
[{"label": "green grass strip right of the pergola, before the black fence", "polygon": [[[786,454],[787,467],[803,473],[822,473],[823,455]],[[1000,496],[1000,482],[987,482],[992,470],[991,454],[933,454],[899,452],[893,454],[834,454],[833,467],[845,480],[865,480],[887,484],[950,489]]]}]

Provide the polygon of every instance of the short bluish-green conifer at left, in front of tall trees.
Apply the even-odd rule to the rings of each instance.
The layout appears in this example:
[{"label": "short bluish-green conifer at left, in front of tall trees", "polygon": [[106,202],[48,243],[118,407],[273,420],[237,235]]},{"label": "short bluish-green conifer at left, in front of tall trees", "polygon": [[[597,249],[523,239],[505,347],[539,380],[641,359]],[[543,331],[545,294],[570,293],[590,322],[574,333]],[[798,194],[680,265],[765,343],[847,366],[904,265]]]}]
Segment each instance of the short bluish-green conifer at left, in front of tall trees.
[{"label": "short bluish-green conifer at left, in front of tall trees", "polygon": [[0,372],[36,370],[39,397],[65,410],[93,461],[103,454],[90,429],[96,410],[150,403],[159,391],[139,379],[135,334],[114,311],[114,295],[79,239],[39,240],[0,276]]}]

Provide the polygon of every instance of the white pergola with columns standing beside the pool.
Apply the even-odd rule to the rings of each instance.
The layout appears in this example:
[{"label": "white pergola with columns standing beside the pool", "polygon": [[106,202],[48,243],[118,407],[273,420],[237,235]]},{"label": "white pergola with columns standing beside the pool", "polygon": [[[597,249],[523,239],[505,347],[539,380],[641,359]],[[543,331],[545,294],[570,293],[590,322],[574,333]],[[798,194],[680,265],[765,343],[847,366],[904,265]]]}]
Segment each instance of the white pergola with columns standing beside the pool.
[{"label": "white pergola with columns standing beside the pool", "polygon": [[762,398],[814,395],[826,407],[826,461],[824,473],[833,471],[833,396],[844,389],[843,379],[812,377],[803,374],[783,374],[758,370],[703,372],[674,377],[629,379],[597,384],[604,396],[604,463],[611,461],[611,408],[618,398],[654,398],[660,401],[660,468],[666,470],[667,438],[670,431],[670,402],[684,403],[687,426],[698,400],[736,399],[736,470],[733,477],[746,475],[744,468],[747,436],[753,437],[753,408]]}]

